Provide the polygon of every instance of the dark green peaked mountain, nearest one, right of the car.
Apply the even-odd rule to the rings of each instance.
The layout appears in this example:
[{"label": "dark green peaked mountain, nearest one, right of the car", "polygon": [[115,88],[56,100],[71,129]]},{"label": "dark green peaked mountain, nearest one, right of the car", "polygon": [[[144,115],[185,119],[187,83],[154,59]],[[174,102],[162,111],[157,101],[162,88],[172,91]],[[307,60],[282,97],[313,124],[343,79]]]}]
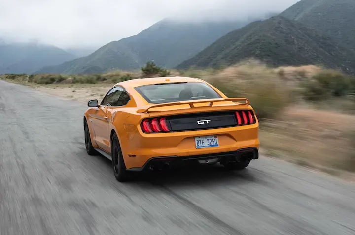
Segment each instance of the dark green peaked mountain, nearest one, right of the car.
[{"label": "dark green peaked mountain, nearest one, right of the car", "polygon": [[255,21],[221,37],[178,69],[232,65],[256,58],[274,66],[323,64],[355,72],[355,53],[319,30],[282,16]]}]

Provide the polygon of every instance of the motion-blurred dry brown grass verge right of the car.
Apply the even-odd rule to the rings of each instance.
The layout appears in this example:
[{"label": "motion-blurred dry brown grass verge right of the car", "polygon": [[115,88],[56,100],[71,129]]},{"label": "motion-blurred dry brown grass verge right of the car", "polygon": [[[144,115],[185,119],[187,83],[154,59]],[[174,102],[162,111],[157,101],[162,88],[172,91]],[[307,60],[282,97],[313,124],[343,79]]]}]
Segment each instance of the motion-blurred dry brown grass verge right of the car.
[{"label": "motion-blurred dry brown grass verge right of the car", "polygon": [[280,117],[260,125],[265,154],[324,170],[355,170],[354,115],[293,106]]}]

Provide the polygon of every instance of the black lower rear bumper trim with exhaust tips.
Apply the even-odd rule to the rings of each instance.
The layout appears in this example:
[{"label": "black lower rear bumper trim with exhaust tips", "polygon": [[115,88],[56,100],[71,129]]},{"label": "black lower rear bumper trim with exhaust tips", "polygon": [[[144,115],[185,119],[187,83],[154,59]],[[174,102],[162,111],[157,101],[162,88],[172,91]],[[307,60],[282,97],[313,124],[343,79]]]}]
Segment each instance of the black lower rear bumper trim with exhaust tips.
[{"label": "black lower rear bumper trim with exhaust tips", "polygon": [[209,159],[217,159],[215,162],[213,162],[214,164],[217,162],[222,163],[223,161],[228,161],[231,158],[237,162],[243,160],[258,159],[259,151],[257,147],[249,147],[249,148],[242,148],[230,152],[220,152],[220,153],[211,153],[211,154],[203,154],[203,155],[184,156],[184,157],[179,157],[179,156],[152,157],[148,161],[146,161],[142,167],[133,167],[127,170],[140,172],[157,165],[160,166],[164,164],[184,165],[185,163],[189,164],[192,162],[198,162],[200,160],[207,160],[208,162]]}]

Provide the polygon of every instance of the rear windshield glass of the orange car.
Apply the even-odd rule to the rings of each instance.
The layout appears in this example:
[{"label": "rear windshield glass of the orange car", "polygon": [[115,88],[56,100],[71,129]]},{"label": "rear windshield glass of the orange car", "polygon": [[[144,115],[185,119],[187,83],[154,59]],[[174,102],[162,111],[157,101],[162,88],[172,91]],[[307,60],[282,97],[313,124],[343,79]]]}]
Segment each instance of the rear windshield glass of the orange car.
[{"label": "rear windshield glass of the orange car", "polygon": [[209,85],[199,82],[151,84],[135,89],[146,101],[153,104],[222,98]]}]

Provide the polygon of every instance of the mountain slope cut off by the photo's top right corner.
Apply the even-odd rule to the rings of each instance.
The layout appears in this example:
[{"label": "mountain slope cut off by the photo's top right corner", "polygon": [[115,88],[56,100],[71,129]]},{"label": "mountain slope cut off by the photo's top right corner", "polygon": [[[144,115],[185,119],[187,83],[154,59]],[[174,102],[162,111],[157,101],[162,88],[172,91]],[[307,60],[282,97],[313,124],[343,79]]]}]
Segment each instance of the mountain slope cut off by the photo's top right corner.
[{"label": "mountain slope cut off by the photo's top right corner", "polygon": [[301,0],[280,15],[321,30],[355,51],[355,0]]}]

